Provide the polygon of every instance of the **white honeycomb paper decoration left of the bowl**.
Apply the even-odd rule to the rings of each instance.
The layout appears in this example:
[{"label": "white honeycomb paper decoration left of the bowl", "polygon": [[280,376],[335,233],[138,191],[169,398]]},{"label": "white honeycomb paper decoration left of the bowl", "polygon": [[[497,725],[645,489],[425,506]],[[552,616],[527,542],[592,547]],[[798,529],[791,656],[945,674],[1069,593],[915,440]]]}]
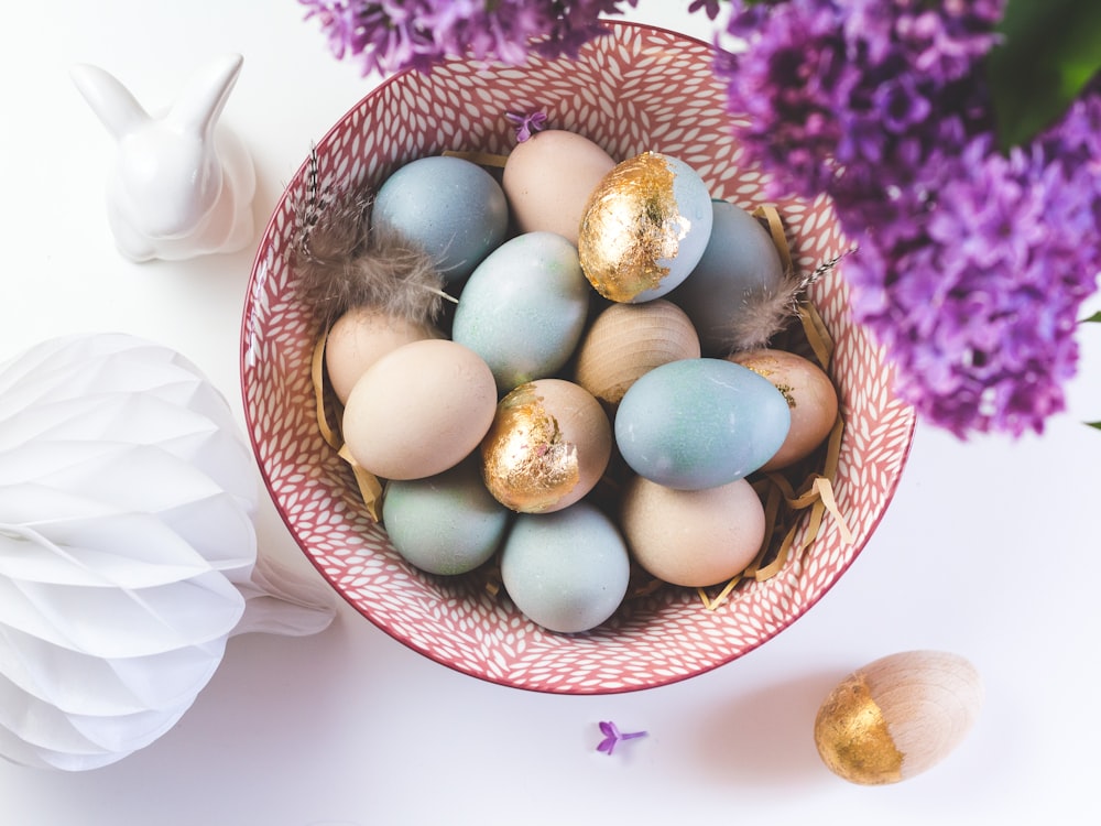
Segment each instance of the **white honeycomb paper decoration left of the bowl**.
[{"label": "white honeycomb paper decoration left of the bowl", "polygon": [[83,771],[149,746],[246,631],[334,608],[258,554],[255,467],[226,399],[123,334],[0,365],[0,756]]}]

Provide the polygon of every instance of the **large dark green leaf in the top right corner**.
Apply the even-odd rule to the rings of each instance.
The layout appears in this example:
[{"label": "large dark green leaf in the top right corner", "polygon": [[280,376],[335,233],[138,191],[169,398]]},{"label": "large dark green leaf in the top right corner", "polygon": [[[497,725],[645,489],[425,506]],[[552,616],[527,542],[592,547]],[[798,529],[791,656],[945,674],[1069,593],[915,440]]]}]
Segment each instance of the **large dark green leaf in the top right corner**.
[{"label": "large dark green leaf in the top right corner", "polygon": [[1057,121],[1101,68],[1101,2],[1009,0],[986,61],[1003,150]]}]

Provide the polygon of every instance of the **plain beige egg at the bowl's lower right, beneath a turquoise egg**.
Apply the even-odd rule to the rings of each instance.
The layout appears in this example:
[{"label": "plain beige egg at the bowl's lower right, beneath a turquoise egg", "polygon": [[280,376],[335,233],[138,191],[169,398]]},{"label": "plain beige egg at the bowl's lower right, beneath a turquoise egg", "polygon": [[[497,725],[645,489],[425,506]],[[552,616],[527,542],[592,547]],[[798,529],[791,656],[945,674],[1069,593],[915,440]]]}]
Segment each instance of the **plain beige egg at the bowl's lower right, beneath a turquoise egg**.
[{"label": "plain beige egg at the bowl's lower right, beneath a turquoise egg", "polygon": [[620,525],[635,561],[674,585],[726,582],[753,562],[765,534],[764,507],[744,479],[674,490],[635,477],[623,494]]}]

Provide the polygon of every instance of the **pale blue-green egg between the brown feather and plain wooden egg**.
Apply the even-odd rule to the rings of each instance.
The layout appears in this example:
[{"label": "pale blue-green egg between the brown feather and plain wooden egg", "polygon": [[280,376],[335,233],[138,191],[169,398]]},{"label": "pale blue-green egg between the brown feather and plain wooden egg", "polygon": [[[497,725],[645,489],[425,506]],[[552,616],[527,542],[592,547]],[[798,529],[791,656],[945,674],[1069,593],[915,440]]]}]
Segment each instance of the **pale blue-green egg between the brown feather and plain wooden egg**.
[{"label": "pale blue-green egg between the brown feather and plain wooden egg", "polygon": [[573,243],[555,232],[525,232],[470,275],[451,338],[481,356],[498,389],[508,392],[553,376],[569,360],[591,295]]}]

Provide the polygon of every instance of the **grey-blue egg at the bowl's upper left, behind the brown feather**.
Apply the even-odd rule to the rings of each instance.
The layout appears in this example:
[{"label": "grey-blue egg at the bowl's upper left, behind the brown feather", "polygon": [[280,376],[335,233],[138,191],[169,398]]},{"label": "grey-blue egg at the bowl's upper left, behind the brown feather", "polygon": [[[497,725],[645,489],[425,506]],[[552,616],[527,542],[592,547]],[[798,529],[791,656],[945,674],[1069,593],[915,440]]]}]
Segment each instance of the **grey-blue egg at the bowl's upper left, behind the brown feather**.
[{"label": "grey-blue egg at the bowl's upper left, behind the brown feather", "polygon": [[501,185],[478,164],[430,155],[405,164],[382,183],[371,222],[418,244],[450,284],[473,272],[504,240],[509,205]]}]

